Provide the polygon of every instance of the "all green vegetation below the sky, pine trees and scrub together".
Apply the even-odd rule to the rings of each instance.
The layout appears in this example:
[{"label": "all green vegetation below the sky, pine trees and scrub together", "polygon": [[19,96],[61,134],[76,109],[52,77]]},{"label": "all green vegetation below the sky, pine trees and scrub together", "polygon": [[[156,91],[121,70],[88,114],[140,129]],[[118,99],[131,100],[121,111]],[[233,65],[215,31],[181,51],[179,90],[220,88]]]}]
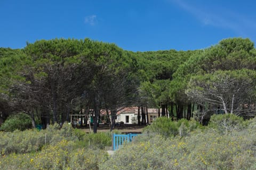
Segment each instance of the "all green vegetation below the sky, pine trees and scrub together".
[{"label": "all green vegetation below the sky, pine trees and scrub together", "polygon": [[[90,39],[0,48],[0,168],[255,169],[255,82],[256,49],[243,38],[187,52],[133,53]],[[96,133],[103,109],[113,130],[127,106],[140,108],[138,124],[149,123],[148,107],[162,117],[111,157],[110,133],[64,123],[92,116]],[[45,130],[25,130],[36,121]]]}]

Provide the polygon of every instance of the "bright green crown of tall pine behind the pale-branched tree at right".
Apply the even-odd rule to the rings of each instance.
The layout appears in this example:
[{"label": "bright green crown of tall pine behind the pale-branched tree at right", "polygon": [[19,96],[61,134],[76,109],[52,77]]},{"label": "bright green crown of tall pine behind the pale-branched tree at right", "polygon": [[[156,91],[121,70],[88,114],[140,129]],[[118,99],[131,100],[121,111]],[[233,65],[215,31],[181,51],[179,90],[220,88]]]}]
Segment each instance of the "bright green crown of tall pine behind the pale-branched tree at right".
[{"label": "bright green crown of tall pine behind the pale-branched tree at right", "polygon": [[[196,52],[187,62],[179,66],[173,74],[171,94],[180,103],[186,104],[188,99],[191,99],[187,96],[190,93],[185,93],[191,77],[204,76],[218,70],[255,70],[255,57],[254,44],[249,39],[224,39],[218,45]],[[204,103],[200,107],[206,105]],[[208,108],[208,106],[202,108],[201,111],[207,111]]]}]

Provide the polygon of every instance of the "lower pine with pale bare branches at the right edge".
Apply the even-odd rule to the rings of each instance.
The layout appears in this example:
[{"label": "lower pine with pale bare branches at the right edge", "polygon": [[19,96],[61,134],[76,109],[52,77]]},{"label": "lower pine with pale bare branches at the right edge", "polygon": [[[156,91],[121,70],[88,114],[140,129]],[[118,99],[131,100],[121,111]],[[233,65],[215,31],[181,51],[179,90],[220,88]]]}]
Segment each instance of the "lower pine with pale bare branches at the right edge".
[{"label": "lower pine with pale bare branches at the right edge", "polygon": [[249,69],[216,71],[191,77],[186,93],[197,103],[208,103],[223,112],[252,116],[255,114],[256,71]]}]

